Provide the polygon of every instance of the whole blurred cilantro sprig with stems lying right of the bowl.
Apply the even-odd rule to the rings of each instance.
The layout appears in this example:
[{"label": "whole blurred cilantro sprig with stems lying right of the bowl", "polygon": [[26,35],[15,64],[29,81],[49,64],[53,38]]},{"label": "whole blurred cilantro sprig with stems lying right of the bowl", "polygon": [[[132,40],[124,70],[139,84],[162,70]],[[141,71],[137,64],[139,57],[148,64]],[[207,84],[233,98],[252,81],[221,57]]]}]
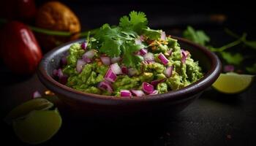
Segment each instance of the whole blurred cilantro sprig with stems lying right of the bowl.
[{"label": "whole blurred cilantro sprig with stems lying right of the bowl", "polygon": [[[213,47],[208,45],[210,42],[210,37],[202,31],[202,30],[195,30],[191,26],[188,26],[187,29],[183,33],[183,37],[186,39],[191,40],[192,42],[195,42],[199,45],[203,45],[207,47],[212,52],[217,53],[220,58],[222,58],[226,64],[233,64],[235,66],[241,66],[243,61],[245,60],[244,55],[241,53],[231,53],[230,51],[227,51],[227,49],[230,49],[232,47],[235,47],[236,45],[245,45],[246,47],[256,49],[256,41],[249,41],[246,39],[246,33],[244,33],[241,37],[238,34],[233,33],[229,29],[225,29],[225,32],[229,34],[231,37],[236,38],[236,41],[230,42],[227,45],[223,45],[222,47]],[[253,64],[252,66],[245,67],[246,72],[249,72],[250,74],[256,74],[256,64]]]}]

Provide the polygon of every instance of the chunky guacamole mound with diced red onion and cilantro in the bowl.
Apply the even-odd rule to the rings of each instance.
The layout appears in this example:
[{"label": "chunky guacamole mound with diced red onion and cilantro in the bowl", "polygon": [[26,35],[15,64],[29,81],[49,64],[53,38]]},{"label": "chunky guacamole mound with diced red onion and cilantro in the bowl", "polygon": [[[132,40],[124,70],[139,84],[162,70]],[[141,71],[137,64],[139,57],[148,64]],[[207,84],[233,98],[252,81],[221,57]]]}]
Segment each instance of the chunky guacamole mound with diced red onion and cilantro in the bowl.
[{"label": "chunky guacamole mound with diced red onion and cilantro in the bowl", "polygon": [[139,29],[135,15],[141,12],[129,15],[129,26],[122,26],[127,20],[121,18],[119,26],[104,25],[94,37],[71,45],[55,73],[59,80],[66,77],[65,85],[86,93],[143,96],[175,91],[203,77],[176,39],[162,30]]}]

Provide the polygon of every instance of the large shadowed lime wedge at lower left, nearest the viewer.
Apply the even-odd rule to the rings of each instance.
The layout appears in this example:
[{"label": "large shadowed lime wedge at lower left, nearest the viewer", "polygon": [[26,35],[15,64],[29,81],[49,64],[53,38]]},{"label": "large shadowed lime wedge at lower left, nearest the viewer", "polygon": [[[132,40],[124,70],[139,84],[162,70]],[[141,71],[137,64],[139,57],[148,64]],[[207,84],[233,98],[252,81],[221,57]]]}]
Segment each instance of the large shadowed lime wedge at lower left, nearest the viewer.
[{"label": "large shadowed lime wedge at lower left, nearest the viewer", "polygon": [[12,124],[15,134],[29,144],[39,144],[47,141],[61,127],[61,116],[58,110],[34,110],[23,119],[17,119]]}]

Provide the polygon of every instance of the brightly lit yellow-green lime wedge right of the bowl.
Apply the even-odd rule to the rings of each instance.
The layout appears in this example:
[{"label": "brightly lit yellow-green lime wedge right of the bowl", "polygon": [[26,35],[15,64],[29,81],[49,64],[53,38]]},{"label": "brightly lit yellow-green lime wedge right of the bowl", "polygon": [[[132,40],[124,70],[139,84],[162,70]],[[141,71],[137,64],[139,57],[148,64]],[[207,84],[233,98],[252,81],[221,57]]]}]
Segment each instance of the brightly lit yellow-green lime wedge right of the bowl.
[{"label": "brightly lit yellow-green lime wedge right of the bowl", "polygon": [[217,91],[228,94],[241,93],[251,85],[254,75],[227,73],[220,74],[212,85]]}]

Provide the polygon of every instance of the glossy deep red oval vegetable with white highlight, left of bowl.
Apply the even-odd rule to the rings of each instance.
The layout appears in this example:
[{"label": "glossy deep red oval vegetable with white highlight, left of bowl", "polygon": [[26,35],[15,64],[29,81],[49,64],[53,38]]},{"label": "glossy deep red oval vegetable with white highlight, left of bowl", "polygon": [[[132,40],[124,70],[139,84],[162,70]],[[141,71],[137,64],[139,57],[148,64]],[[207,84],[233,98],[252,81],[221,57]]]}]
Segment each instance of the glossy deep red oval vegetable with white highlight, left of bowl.
[{"label": "glossy deep red oval vegetable with white highlight, left of bowl", "polygon": [[1,33],[1,56],[13,72],[32,74],[42,58],[42,51],[30,28],[12,21]]}]

